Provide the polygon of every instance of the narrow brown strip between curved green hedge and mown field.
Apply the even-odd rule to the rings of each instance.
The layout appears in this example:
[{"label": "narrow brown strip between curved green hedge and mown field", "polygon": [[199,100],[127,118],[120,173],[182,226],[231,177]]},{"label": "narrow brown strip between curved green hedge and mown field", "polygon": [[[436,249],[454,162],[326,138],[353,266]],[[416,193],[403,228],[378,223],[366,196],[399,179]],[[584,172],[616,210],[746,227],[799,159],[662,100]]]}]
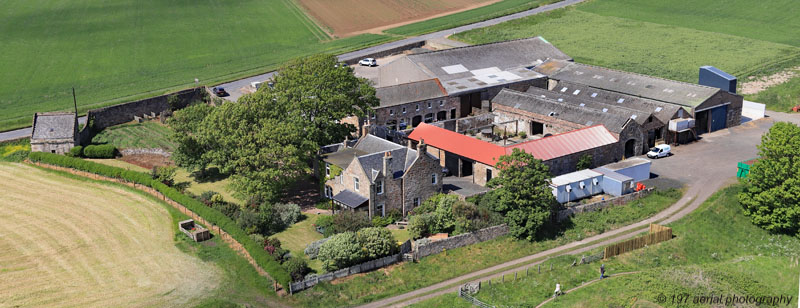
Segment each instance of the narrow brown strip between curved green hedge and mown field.
[{"label": "narrow brown strip between curved green hedge and mown field", "polygon": [[186,216],[189,216],[190,218],[194,219],[194,221],[196,221],[196,222],[198,222],[198,223],[200,223],[200,224],[202,224],[204,226],[207,226],[208,229],[212,233],[217,234],[222,239],[222,241],[225,242],[225,244],[228,245],[228,247],[230,247],[231,249],[233,249],[233,251],[237,252],[239,255],[244,257],[247,260],[247,262],[249,262],[250,265],[252,265],[253,268],[256,269],[256,271],[258,272],[259,275],[267,277],[269,280],[273,281],[274,288],[277,291],[277,284],[275,283],[275,280],[272,279],[272,277],[269,276],[267,271],[265,271],[263,268],[261,268],[261,266],[258,265],[258,263],[256,263],[256,260],[253,259],[252,256],[250,256],[250,253],[247,252],[246,249],[244,249],[244,246],[242,246],[241,243],[236,241],[236,239],[234,239],[227,232],[225,232],[225,230],[222,230],[222,228],[220,228],[219,226],[216,226],[216,225],[213,225],[213,224],[209,223],[203,217],[200,217],[200,215],[197,215],[194,212],[190,211],[189,209],[187,209],[182,204],[180,204],[178,202],[175,202],[170,198],[167,198],[162,193],[160,193],[158,190],[155,190],[155,189],[153,189],[151,187],[148,187],[148,186],[145,186],[145,185],[128,182],[128,181],[125,181],[125,180],[122,180],[122,179],[110,178],[110,177],[94,174],[94,173],[91,173],[91,172],[79,171],[79,170],[75,170],[75,169],[71,169],[71,168],[66,168],[66,167],[61,167],[61,166],[54,166],[54,165],[44,164],[44,163],[40,163],[40,162],[28,162],[28,163],[36,165],[36,166],[39,166],[39,167],[42,167],[42,168],[58,170],[58,171],[64,171],[64,172],[67,172],[67,173],[71,173],[71,174],[74,174],[74,175],[90,178],[90,179],[93,179],[93,180],[114,182],[114,183],[123,184],[125,186],[132,187],[134,189],[138,189],[140,191],[143,191],[143,192],[145,192],[145,193],[147,193],[147,194],[149,194],[149,195],[151,195],[153,197],[156,197],[156,198],[166,202],[169,205],[172,205],[172,207],[178,209],[179,211],[181,211],[181,213],[186,214]]}]

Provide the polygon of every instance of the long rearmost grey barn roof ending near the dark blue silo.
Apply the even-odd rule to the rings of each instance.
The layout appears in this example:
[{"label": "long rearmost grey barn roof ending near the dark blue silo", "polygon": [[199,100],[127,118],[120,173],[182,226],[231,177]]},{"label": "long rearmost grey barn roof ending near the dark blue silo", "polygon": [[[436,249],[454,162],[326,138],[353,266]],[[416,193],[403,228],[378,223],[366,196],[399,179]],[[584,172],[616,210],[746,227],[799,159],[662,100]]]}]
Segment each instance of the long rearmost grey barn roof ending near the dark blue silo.
[{"label": "long rearmost grey barn roof ending near the dark blue silo", "polygon": [[558,81],[580,83],[692,108],[722,91],[719,88],[558,59],[548,60],[534,70]]}]

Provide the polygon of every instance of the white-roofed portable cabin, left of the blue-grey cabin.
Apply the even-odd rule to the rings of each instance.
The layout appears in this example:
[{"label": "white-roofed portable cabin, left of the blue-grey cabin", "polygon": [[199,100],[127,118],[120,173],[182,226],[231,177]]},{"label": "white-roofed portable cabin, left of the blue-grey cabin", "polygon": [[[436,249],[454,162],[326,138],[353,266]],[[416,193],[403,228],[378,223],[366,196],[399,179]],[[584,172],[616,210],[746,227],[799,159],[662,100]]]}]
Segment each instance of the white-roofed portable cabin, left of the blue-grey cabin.
[{"label": "white-roofed portable cabin, left of the blue-grey cabin", "polygon": [[567,203],[602,193],[602,182],[602,173],[585,169],[550,179],[550,188],[558,202]]}]

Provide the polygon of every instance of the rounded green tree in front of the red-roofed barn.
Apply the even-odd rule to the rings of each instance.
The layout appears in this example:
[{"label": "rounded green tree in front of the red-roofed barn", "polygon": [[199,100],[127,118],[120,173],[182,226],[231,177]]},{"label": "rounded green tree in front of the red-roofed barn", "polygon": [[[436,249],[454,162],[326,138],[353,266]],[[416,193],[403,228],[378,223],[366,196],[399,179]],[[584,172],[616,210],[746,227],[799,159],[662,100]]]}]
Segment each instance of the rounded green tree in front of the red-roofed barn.
[{"label": "rounded green tree in front of the red-roofed barn", "polygon": [[492,210],[500,212],[516,238],[532,241],[554,210],[556,200],[548,187],[550,172],[533,155],[514,149],[499,158],[499,176],[487,183],[496,188]]}]

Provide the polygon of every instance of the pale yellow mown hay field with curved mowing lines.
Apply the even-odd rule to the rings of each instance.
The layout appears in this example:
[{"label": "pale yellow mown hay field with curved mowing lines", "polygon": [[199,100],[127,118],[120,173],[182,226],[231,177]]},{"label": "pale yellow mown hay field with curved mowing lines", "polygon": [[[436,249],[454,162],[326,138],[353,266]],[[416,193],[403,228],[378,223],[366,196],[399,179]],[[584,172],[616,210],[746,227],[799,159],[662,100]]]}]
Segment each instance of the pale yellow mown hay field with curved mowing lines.
[{"label": "pale yellow mown hay field with curved mowing lines", "polygon": [[0,191],[0,306],[191,306],[222,279],[143,195],[12,163]]}]

